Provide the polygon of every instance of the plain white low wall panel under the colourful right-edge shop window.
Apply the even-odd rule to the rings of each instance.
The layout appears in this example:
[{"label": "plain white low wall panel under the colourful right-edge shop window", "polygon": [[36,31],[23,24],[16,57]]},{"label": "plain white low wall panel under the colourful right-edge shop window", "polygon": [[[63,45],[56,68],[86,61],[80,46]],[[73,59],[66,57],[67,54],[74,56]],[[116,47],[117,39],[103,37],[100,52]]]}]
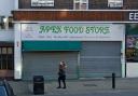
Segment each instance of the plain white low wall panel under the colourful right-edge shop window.
[{"label": "plain white low wall panel under the colourful right-edge shop window", "polygon": [[126,63],[126,78],[138,78],[138,63]]}]

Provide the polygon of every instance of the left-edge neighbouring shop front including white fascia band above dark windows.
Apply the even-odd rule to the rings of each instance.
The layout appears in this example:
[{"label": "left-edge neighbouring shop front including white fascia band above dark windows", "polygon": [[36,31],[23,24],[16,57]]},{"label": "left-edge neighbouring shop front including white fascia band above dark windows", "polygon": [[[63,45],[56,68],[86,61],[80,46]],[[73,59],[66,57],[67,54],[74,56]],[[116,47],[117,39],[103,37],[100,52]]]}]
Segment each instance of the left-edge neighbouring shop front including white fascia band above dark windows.
[{"label": "left-edge neighbouring shop front including white fascia band above dark windows", "polygon": [[0,79],[14,78],[14,31],[0,30]]}]

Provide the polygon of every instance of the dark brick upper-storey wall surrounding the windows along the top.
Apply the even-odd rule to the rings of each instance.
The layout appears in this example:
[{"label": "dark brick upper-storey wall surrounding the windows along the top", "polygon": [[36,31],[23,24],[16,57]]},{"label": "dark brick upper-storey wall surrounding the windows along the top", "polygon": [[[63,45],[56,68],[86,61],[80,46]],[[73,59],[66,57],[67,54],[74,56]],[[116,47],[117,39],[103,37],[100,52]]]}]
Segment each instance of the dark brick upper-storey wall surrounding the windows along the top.
[{"label": "dark brick upper-storey wall surrounding the windows along the top", "polygon": [[[108,8],[108,0],[89,0],[89,10],[104,10]],[[54,6],[47,8],[31,8],[31,0],[19,0],[19,9],[69,9],[73,10],[73,0],[55,0]],[[124,0],[124,6],[120,9],[137,10],[138,0]]]}]

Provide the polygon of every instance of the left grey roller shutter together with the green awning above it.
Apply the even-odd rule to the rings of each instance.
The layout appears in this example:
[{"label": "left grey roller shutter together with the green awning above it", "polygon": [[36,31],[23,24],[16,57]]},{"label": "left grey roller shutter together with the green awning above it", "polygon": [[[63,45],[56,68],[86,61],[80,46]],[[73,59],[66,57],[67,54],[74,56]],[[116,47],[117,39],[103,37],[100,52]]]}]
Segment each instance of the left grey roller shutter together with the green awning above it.
[{"label": "left grey roller shutter together with the green awning above it", "polygon": [[[33,76],[43,76],[45,80],[57,79],[58,65],[61,60],[66,61],[68,66],[67,78],[78,79],[77,68],[78,55],[81,50],[80,42],[23,41],[23,44],[25,45],[25,47],[23,46],[23,79],[30,80]],[[29,51],[27,51],[26,46],[28,44],[32,45],[32,49]],[[41,50],[34,50],[34,47],[41,47]]]}]

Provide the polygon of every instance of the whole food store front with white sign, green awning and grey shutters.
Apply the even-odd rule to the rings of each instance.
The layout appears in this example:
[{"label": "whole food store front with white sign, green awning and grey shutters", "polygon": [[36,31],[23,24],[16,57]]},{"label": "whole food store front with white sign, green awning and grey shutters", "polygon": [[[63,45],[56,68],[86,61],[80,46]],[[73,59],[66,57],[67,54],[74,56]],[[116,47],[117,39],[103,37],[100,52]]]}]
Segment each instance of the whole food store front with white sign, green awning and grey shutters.
[{"label": "whole food store front with white sign, green awning and grey shutters", "polygon": [[[18,61],[15,77],[56,79],[58,63],[67,63],[67,79],[122,77],[125,27],[122,24],[16,24]],[[16,44],[15,44],[16,45]],[[15,64],[16,65],[16,64]],[[20,68],[20,69],[19,69]],[[18,71],[18,72],[17,72]]]}]

